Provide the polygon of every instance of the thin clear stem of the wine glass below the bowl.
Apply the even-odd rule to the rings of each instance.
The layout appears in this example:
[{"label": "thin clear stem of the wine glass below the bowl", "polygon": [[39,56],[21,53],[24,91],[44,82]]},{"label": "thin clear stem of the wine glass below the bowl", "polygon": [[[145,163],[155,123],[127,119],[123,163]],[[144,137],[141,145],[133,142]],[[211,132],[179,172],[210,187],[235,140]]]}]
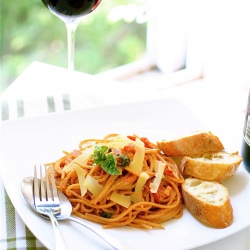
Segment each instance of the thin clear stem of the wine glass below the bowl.
[{"label": "thin clear stem of the wine glass below the bowl", "polygon": [[67,39],[68,39],[68,69],[74,71],[75,60],[75,34],[77,23],[66,22]]}]

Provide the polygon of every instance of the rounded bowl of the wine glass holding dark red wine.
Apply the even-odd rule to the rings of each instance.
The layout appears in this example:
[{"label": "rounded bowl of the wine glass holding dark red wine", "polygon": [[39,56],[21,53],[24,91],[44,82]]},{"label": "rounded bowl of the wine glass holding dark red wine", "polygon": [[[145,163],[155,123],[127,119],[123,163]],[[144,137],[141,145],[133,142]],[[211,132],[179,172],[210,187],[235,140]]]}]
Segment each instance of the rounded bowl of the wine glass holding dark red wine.
[{"label": "rounded bowl of the wine glass holding dark red wine", "polygon": [[79,19],[95,10],[101,0],[42,0],[58,17],[65,21]]}]

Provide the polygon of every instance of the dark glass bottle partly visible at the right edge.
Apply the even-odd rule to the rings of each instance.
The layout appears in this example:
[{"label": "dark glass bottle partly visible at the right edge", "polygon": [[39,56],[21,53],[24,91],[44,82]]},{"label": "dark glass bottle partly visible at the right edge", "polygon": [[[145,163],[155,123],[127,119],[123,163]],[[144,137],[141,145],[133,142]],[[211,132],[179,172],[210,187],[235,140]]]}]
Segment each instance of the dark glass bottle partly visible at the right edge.
[{"label": "dark glass bottle partly visible at the right edge", "polygon": [[246,111],[245,124],[243,129],[242,157],[244,165],[250,172],[250,91],[248,95],[248,104]]}]

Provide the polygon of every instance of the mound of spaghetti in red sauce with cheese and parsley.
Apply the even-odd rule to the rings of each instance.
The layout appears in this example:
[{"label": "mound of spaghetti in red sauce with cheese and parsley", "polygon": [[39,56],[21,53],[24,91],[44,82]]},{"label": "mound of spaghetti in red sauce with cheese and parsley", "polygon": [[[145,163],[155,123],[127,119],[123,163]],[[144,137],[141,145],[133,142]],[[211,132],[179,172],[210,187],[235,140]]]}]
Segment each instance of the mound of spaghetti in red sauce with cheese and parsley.
[{"label": "mound of spaghetti in red sauce with cheese and parsley", "polygon": [[64,151],[49,164],[73,214],[104,228],[163,228],[162,223],[182,216],[178,167],[145,137],[109,134],[84,140],[78,150]]}]

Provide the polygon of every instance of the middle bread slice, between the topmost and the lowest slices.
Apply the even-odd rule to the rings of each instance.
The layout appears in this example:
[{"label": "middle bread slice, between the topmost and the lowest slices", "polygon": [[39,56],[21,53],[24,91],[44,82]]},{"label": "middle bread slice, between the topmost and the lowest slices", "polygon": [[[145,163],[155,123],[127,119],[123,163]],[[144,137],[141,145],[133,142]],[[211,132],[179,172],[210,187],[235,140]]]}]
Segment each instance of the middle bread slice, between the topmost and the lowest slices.
[{"label": "middle bread slice, between the topmost and the lowest slices", "polygon": [[200,157],[184,156],[180,171],[184,175],[207,181],[221,181],[233,176],[238,169],[242,157],[235,153],[206,153]]}]

